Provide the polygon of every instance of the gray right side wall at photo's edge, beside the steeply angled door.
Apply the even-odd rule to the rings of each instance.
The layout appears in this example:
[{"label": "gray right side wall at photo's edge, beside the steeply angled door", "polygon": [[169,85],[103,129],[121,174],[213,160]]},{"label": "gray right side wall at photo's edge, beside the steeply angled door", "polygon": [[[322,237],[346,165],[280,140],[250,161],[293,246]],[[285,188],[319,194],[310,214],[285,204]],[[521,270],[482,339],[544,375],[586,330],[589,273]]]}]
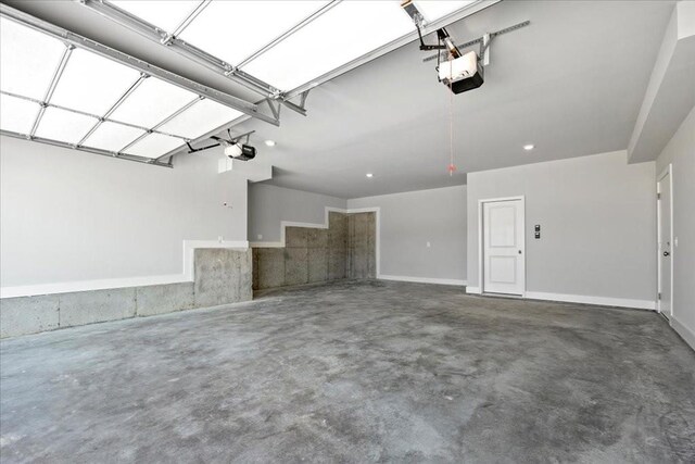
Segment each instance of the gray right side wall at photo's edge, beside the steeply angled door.
[{"label": "gray right side wall at photo's edge, beside the steeply angled door", "polygon": [[[695,108],[657,160],[656,174],[673,167],[673,317],[695,348]],[[684,336],[683,338],[686,338]]]}]

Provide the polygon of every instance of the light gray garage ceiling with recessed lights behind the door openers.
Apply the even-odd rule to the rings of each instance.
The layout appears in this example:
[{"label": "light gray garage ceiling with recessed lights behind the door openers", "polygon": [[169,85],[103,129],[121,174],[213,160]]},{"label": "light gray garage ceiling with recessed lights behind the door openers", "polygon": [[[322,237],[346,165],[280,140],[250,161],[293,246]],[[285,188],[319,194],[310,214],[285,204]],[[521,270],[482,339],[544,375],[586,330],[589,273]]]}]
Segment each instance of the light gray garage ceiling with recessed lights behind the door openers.
[{"label": "light gray garage ceiling with recessed lights behind the door openers", "polygon": [[[201,84],[257,99],[77,2],[8,3]],[[531,21],[493,41],[485,84],[475,91],[452,98],[437,81],[433,62],[422,62],[429,53],[409,43],[313,89],[306,117],[283,111],[280,127],[250,120],[233,131],[256,130],[253,163],[274,166],[270,184],[342,198],[460,185],[467,172],[622,150],[673,4],[503,1],[448,27],[462,43]],[[450,104],[458,167],[451,177]],[[265,139],[277,146],[265,147]],[[535,149],[526,152],[526,143]]]}]

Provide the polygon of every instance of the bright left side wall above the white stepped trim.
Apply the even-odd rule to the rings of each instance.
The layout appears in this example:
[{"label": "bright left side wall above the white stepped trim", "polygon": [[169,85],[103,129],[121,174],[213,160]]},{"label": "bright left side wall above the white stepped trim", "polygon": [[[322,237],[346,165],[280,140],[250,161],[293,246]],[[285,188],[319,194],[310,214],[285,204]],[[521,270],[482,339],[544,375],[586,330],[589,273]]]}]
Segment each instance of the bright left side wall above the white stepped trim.
[{"label": "bright left side wall above the white stepped trim", "polygon": [[169,170],[0,143],[3,288],[180,276],[184,240],[247,240],[247,180],[218,174],[216,159]]}]

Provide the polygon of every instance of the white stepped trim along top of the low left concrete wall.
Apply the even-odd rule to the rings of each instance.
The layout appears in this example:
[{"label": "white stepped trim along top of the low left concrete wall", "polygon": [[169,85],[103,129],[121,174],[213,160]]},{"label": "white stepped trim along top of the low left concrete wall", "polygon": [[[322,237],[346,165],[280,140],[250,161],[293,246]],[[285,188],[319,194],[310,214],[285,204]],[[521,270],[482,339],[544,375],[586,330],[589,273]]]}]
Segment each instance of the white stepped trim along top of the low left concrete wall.
[{"label": "white stepped trim along top of the low left concrete wall", "polygon": [[180,274],[116,277],[97,280],[73,280],[63,283],[2,287],[0,288],[0,299],[33,297],[37,294],[70,293],[73,291],[108,290],[112,288],[147,287],[150,285],[180,284],[184,281],[193,281],[193,254],[197,248],[233,248],[245,250],[249,248],[249,242],[245,240],[184,240],[184,268]]}]

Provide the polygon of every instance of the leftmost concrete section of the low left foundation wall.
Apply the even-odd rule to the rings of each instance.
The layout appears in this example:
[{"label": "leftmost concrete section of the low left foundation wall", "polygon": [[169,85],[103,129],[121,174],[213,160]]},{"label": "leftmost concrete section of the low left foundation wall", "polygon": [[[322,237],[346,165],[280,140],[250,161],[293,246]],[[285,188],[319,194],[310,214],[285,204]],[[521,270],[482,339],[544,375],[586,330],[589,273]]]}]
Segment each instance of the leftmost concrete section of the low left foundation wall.
[{"label": "leftmost concrete section of the low left foundation wall", "polygon": [[0,300],[0,338],[53,330],[59,326],[56,294]]}]

